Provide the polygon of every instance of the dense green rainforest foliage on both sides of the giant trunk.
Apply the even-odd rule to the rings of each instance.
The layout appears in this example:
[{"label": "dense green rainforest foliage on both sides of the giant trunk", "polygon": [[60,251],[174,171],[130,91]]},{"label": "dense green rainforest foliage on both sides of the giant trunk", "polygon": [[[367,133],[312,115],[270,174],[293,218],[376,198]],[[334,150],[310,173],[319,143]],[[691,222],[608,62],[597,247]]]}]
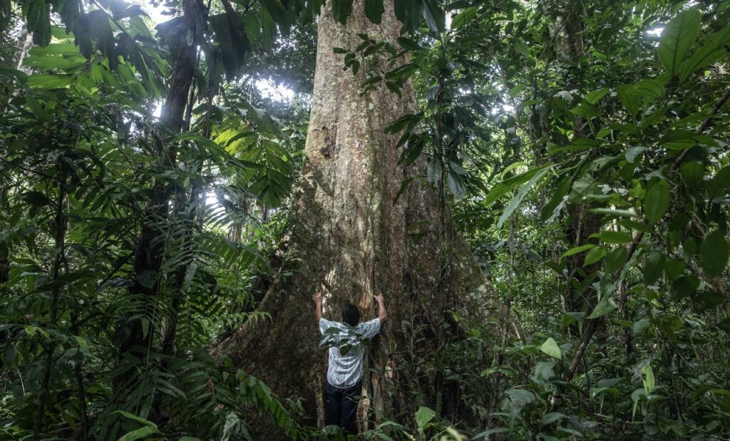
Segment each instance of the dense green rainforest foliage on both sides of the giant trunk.
[{"label": "dense green rainforest foliage on both sides of the giant trunk", "polygon": [[[252,412],[315,436],[296,397],[206,348],[266,320],[320,3],[191,3],[155,31],[121,1],[0,0],[38,44],[27,72],[0,70],[3,439],[237,440]],[[377,23],[382,2],[365,4]],[[334,1],[337,20],[350,8]],[[464,338],[437,368],[456,410],[365,436],[729,436],[730,5],[426,0],[396,15],[399,47],[364,35],[335,51],[355,72],[405,61],[363,91],[413,81],[419,112],[388,129],[423,166],[404,188],[438,189],[509,313],[453,312]],[[173,127],[171,73],[193,45]],[[267,78],[299,98],[262,98]],[[139,266],[145,229],[155,269]]]}]

